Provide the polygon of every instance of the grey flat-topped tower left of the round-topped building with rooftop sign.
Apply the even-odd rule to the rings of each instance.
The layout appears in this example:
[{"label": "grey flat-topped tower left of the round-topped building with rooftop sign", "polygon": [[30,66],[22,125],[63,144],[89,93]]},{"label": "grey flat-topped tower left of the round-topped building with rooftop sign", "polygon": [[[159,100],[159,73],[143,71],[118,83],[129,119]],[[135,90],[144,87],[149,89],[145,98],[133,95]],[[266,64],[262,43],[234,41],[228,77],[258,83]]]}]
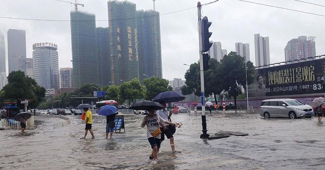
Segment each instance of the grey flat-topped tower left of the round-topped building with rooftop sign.
[{"label": "grey flat-topped tower left of the round-topped building with rooftop sign", "polygon": [[26,72],[26,33],[25,30],[8,30],[8,71]]}]

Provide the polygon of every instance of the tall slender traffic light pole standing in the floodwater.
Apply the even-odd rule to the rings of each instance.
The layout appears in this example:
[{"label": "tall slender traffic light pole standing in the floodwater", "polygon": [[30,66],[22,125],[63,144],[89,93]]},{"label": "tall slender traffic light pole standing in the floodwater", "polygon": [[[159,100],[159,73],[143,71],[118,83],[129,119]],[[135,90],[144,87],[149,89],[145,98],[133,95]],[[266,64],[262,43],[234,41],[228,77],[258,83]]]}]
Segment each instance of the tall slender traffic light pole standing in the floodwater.
[{"label": "tall slender traffic light pole standing in the floodwater", "polygon": [[202,27],[201,27],[201,3],[198,2],[198,25],[199,25],[199,53],[200,53],[200,77],[201,77],[201,106],[202,106],[202,132],[200,138],[208,138],[207,121],[205,116],[205,95],[204,95],[204,70],[203,70],[203,45],[202,45]]}]

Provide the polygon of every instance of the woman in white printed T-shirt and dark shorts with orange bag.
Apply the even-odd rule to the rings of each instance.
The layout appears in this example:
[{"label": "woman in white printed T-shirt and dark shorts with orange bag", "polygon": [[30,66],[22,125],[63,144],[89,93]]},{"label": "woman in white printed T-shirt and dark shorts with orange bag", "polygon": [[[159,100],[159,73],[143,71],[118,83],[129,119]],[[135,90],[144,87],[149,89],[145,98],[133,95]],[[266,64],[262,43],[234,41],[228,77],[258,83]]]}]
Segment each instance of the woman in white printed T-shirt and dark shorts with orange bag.
[{"label": "woman in white printed T-shirt and dark shorts with orange bag", "polygon": [[149,156],[149,158],[153,159],[151,162],[152,164],[156,164],[157,159],[158,159],[158,150],[160,148],[160,136],[161,135],[158,134],[157,136],[154,136],[154,134],[152,134],[152,133],[155,131],[160,131],[160,128],[159,128],[160,123],[167,123],[170,125],[175,125],[175,124],[172,122],[169,122],[169,121],[161,118],[159,115],[155,114],[154,108],[148,109],[148,112],[149,112],[149,114],[146,115],[142,120],[141,128],[144,128],[144,126],[147,125],[147,137],[148,137],[148,141],[152,148],[152,152],[151,152],[151,155]]}]

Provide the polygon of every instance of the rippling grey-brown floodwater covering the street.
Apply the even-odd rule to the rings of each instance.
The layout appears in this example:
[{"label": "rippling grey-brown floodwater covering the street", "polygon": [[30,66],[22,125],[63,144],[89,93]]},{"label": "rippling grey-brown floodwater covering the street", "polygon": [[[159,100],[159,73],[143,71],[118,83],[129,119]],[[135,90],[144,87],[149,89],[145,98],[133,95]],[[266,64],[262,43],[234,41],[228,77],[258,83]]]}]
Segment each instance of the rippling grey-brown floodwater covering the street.
[{"label": "rippling grey-brown floodwater covering the street", "polygon": [[[122,114],[123,115],[123,114]],[[207,115],[208,134],[248,133],[223,139],[200,139],[201,115],[176,114],[175,148],[161,144],[158,164],[151,165],[151,148],[144,115],[124,114],[125,133],[106,140],[106,117],[93,116],[96,139],[80,139],[80,116],[61,119],[36,116],[25,133],[0,131],[0,169],[325,169],[325,122],[317,118],[265,119],[257,114]],[[324,119],[325,120],[325,119]],[[324,121],[323,120],[323,121]]]}]

